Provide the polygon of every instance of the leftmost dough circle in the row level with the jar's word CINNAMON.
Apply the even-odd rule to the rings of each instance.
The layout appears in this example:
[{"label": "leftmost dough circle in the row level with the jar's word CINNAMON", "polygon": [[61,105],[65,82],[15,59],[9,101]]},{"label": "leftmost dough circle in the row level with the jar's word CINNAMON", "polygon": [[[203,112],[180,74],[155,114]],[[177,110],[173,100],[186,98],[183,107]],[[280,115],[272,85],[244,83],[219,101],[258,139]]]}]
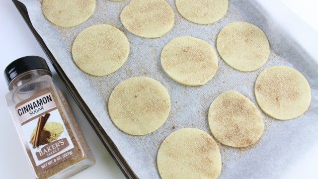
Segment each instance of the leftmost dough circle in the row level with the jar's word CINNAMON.
[{"label": "leftmost dough circle in the row level with the jar's word CINNAMON", "polygon": [[113,123],[123,132],[146,135],[167,119],[170,98],[160,82],[134,77],[115,87],[109,97],[108,111]]}]

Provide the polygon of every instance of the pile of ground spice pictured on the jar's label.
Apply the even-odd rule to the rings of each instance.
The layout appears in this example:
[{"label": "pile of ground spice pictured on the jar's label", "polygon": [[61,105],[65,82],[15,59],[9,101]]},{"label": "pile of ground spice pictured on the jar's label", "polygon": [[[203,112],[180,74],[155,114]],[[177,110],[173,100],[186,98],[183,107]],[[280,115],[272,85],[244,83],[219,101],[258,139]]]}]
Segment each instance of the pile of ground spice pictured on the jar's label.
[{"label": "pile of ground spice pictured on the jar's label", "polygon": [[[62,124],[58,122],[46,122],[39,136],[39,145],[44,145],[52,141],[55,141],[56,139],[58,139],[58,137],[61,135],[63,131],[64,129]],[[34,138],[35,132],[36,128],[34,128],[31,134],[30,143],[32,143],[32,139]]]}]

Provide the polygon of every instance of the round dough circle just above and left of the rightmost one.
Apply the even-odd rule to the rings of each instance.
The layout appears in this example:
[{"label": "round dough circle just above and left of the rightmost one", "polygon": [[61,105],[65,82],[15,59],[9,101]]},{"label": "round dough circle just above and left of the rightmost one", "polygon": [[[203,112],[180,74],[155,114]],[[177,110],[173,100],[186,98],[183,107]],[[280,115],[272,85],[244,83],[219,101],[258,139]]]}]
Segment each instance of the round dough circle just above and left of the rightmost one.
[{"label": "round dough circle just above and left of the rightmost one", "polygon": [[269,56],[265,33],[247,22],[232,22],[223,27],[217,38],[217,49],[228,65],[242,72],[259,69]]}]

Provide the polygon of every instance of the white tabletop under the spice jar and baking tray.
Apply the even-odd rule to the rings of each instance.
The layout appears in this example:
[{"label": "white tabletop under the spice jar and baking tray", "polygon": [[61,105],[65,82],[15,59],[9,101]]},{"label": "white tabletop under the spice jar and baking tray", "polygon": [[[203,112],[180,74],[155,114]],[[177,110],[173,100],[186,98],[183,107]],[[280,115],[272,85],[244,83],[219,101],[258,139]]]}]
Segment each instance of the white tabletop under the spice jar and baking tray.
[{"label": "white tabletop under the spice jar and baking tray", "polygon": [[[313,29],[318,30],[318,1],[317,0],[281,0],[292,11],[303,18]],[[266,5],[275,6],[275,0],[263,1]],[[277,12],[277,10],[276,10]],[[286,21],[288,17],[286,17]],[[26,23],[11,0],[0,0],[0,73],[13,60],[23,56],[37,55],[47,59],[40,45],[32,35]],[[288,23],[288,22],[287,22]],[[304,32],[306,33],[306,32]],[[317,32],[318,33],[318,32]],[[298,39],[304,46],[317,49],[317,42],[310,39]],[[313,47],[313,45],[315,47]],[[314,50],[312,50],[315,52]],[[47,61],[49,63],[49,61]],[[72,110],[75,113],[79,127],[96,158],[96,164],[79,174],[74,179],[124,179],[125,177],[117,167],[108,151],[79,110],[71,94],[50,65],[53,78],[64,92]],[[8,92],[3,76],[0,76],[0,178],[5,179],[32,179],[33,174],[24,154],[22,145],[15,131],[13,121],[5,103],[5,94]],[[292,164],[281,179],[317,179],[318,144],[309,149],[306,154],[299,154],[301,159]]]}]

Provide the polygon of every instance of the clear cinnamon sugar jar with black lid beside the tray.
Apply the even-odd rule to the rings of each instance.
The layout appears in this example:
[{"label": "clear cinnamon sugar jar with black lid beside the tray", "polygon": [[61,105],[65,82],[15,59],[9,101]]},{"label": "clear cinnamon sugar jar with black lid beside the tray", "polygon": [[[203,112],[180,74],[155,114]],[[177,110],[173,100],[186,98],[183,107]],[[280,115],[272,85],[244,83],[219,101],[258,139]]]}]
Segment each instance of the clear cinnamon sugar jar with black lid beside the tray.
[{"label": "clear cinnamon sugar jar with black lid beside the tray", "polygon": [[37,179],[67,178],[94,165],[65,98],[45,60],[19,58],[5,71],[6,102]]}]

